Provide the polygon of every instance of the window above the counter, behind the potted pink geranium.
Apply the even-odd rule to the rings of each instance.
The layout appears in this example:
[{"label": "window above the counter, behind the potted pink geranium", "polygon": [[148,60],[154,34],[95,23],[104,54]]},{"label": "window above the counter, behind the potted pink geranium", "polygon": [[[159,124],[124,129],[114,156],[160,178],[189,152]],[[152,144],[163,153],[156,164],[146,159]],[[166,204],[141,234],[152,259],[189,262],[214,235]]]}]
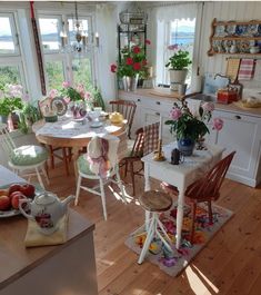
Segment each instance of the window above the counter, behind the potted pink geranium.
[{"label": "window above the counter, behind the potted pink geranium", "polygon": [[[159,45],[157,47],[157,83],[170,83],[169,71],[165,68],[165,63],[173,55],[173,51],[168,49],[169,46],[178,45],[179,49],[189,51],[190,58],[193,60],[194,30],[195,18],[158,22]],[[164,38],[162,38],[162,36],[164,36]],[[185,80],[189,86],[191,83],[191,68],[192,65],[189,67],[189,73]]]}]

